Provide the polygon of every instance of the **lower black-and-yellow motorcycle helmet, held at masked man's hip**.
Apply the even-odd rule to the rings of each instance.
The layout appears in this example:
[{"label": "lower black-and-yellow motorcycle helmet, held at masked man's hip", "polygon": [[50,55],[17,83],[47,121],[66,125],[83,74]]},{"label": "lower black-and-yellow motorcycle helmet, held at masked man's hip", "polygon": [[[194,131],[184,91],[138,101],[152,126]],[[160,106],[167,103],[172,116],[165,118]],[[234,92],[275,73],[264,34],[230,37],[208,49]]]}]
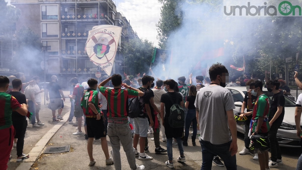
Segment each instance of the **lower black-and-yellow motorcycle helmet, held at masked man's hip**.
[{"label": "lower black-and-yellow motorcycle helmet, held at masked man's hip", "polygon": [[258,153],[258,151],[267,151],[270,148],[270,142],[267,136],[263,135],[252,135],[252,145],[249,147],[249,152],[252,154]]}]

